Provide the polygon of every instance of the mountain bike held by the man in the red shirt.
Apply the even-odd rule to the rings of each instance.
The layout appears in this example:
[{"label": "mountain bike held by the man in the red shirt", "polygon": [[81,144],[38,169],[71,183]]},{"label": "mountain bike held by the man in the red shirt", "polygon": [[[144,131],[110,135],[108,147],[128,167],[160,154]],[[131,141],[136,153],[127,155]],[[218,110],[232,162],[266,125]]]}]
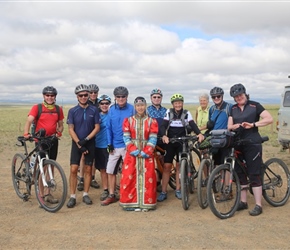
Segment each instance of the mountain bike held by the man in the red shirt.
[{"label": "mountain bike held by the man in the red shirt", "polygon": [[[67,197],[67,180],[62,167],[49,159],[48,150],[54,140],[53,136],[44,137],[45,132],[35,136],[17,138],[19,147],[24,147],[23,153],[16,153],[12,159],[12,182],[16,194],[24,201],[31,196],[31,186],[35,186],[36,198],[42,208],[48,212],[57,212],[62,208]],[[36,142],[35,148],[28,151],[27,142]],[[34,166],[30,160],[35,155]],[[53,202],[52,202],[53,197]]]}]

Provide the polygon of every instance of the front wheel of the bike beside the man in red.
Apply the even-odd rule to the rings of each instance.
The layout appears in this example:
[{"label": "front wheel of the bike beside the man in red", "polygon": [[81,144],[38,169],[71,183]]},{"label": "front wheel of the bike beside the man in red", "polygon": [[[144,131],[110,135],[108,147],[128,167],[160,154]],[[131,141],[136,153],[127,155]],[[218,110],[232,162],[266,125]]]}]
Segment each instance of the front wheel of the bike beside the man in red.
[{"label": "front wheel of the bike beside the man in red", "polygon": [[[66,176],[62,167],[50,159],[44,160],[43,172],[42,176],[38,168],[35,175],[36,198],[46,211],[54,213],[62,208],[67,198]],[[47,183],[46,187],[43,185],[43,177]]]}]

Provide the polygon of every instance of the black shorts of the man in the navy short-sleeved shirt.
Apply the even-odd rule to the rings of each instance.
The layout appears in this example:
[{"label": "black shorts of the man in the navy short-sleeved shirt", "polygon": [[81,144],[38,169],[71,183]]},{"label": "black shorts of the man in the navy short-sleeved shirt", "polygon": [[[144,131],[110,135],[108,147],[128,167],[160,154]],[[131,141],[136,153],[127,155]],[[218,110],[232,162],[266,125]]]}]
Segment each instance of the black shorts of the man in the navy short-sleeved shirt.
[{"label": "black shorts of the man in the navy short-sleeved shirt", "polygon": [[[95,140],[89,140],[85,147],[88,149],[89,153],[85,154],[85,165],[93,166],[93,161],[95,159]],[[82,152],[80,152],[77,144],[72,141],[71,153],[70,153],[70,164],[71,165],[80,165],[82,158]]]}]

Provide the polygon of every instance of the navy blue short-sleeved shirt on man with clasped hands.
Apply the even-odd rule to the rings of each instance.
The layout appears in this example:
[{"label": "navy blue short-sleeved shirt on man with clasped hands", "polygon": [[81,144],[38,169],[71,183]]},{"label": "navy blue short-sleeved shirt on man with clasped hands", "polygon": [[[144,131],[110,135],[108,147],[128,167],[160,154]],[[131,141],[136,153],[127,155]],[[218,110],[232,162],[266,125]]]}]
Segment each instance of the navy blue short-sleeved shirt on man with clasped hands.
[{"label": "navy blue short-sleeved shirt on man with clasped hands", "polygon": [[100,124],[99,111],[94,106],[82,108],[77,105],[68,111],[67,124],[74,125],[74,131],[80,140],[86,138]]}]

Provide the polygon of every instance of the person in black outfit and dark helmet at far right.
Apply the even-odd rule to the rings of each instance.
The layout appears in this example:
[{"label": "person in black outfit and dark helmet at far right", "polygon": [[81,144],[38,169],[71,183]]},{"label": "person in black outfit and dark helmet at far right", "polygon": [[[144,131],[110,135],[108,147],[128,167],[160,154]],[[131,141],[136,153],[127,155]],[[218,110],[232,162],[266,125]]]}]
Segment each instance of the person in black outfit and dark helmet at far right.
[{"label": "person in black outfit and dark helmet at far right", "polygon": [[262,166],[262,143],[259,134],[259,127],[264,127],[273,122],[271,114],[258,102],[249,100],[246,94],[246,88],[238,83],[231,87],[230,95],[234,98],[236,104],[230,110],[228,129],[236,131],[241,139],[250,139],[251,143],[238,145],[236,150],[241,152],[242,157],[247,162],[247,175],[237,164],[235,170],[241,183],[241,200],[238,211],[248,209],[247,189],[248,180],[253,189],[255,198],[255,207],[249,211],[251,216],[257,216],[262,210],[262,181],[260,178]]}]

